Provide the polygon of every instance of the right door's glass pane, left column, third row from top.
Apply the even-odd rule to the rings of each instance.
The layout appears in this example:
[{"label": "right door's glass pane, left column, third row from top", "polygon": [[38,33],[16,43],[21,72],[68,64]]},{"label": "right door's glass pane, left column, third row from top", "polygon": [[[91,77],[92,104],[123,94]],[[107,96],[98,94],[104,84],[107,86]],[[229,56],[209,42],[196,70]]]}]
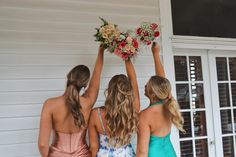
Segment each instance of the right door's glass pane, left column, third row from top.
[{"label": "right door's glass pane, left column, third row from top", "polygon": [[222,134],[233,133],[231,110],[220,111]]}]

